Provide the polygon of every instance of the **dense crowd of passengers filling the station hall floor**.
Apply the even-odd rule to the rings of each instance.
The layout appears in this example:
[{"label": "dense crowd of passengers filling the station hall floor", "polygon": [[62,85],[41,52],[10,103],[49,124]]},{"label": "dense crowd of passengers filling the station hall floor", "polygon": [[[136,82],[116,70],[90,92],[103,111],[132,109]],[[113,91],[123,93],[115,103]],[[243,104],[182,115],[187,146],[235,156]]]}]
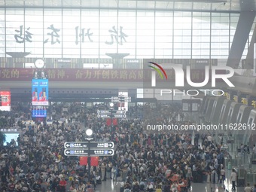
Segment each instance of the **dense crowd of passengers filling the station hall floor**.
[{"label": "dense crowd of passengers filling the station hall floor", "polygon": [[[128,118],[114,126],[96,116],[96,110],[105,108],[70,106],[65,113],[51,108],[52,123],[19,121],[15,125],[17,116],[29,119],[29,109],[2,112],[2,127],[15,127],[22,134],[0,150],[0,191],[84,192],[111,180],[123,183],[123,191],[178,192],[190,190],[191,181],[224,181],[224,154],[209,134],[145,130],[147,123],[190,123],[184,121],[180,106],[131,107]],[[99,166],[91,166],[90,181],[88,166],[80,166],[78,157],[63,154],[64,142],[84,142],[87,128],[93,129],[95,141],[115,144],[113,157],[100,157]]]}]

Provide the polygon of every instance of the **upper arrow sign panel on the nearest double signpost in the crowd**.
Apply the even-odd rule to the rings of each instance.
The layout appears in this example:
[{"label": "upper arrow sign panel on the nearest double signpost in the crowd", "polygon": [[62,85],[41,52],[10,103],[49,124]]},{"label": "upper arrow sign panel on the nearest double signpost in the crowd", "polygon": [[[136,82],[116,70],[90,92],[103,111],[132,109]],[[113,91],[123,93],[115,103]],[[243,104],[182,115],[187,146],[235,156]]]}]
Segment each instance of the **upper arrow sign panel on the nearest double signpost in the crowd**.
[{"label": "upper arrow sign panel on the nearest double signpost in the crowd", "polygon": [[114,148],[114,142],[65,142],[64,148]]}]

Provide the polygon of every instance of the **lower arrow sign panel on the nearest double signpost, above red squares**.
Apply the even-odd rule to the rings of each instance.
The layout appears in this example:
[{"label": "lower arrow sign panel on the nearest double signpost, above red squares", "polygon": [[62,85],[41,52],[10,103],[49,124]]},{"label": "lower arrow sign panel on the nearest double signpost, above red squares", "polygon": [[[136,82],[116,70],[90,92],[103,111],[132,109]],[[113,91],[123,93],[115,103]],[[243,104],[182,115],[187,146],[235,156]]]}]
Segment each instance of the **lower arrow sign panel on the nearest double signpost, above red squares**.
[{"label": "lower arrow sign panel on the nearest double signpost, above red squares", "polygon": [[[64,150],[66,156],[86,156],[89,154],[89,150],[85,148],[69,148]],[[113,156],[113,149],[91,149],[90,156]]]}]

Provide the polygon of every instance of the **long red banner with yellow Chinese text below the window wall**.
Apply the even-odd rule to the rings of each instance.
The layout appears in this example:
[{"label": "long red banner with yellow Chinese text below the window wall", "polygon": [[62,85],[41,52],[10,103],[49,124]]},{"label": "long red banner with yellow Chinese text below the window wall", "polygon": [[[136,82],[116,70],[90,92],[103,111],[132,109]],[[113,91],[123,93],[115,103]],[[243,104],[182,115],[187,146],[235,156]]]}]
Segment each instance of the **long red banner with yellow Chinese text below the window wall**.
[{"label": "long red banner with yellow Chinese text below the window wall", "polygon": [[[35,70],[44,70],[49,81],[151,81],[151,69],[23,69],[0,68],[0,81],[31,81]],[[175,80],[175,71],[166,69],[168,80]],[[221,71],[221,70],[220,70]],[[191,81],[203,82],[204,69],[191,69]],[[211,74],[209,72],[209,74]],[[220,74],[224,74],[224,70]],[[184,75],[185,76],[185,75]],[[157,76],[159,81],[160,77]],[[217,79],[218,81],[218,79]]]}]

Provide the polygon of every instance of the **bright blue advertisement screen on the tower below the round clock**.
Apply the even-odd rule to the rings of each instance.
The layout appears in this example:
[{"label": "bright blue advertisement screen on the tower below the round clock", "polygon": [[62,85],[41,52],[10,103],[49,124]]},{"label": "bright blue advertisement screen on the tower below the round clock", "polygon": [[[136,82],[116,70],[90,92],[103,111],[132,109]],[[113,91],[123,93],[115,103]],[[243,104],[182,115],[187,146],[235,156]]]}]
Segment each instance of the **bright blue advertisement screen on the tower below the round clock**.
[{"label": "bright blue advertisement screen on the tower below the round clock", "polygon": [[32,105],[49,105],[48,79],[32,79]]}]

